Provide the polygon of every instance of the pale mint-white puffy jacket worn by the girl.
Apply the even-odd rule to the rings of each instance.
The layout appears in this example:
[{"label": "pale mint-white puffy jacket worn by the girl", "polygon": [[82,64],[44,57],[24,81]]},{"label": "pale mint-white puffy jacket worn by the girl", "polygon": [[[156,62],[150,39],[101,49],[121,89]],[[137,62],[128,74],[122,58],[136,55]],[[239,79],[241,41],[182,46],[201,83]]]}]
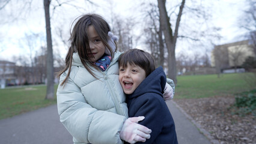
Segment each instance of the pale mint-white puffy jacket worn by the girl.
[{"label": "pale mint-white puffy jacket worn by the girl", "polygon": [[[93,68],[91,74],[82,65],[78,53],[66,85],[58,86],[59,119],[73,136],[74,143],[123,143],[119,133],[128,117],[127,105],[118,81],[120,52],[116,52],[106,71]],[[61,83],[67,76],[64,72]]]}]

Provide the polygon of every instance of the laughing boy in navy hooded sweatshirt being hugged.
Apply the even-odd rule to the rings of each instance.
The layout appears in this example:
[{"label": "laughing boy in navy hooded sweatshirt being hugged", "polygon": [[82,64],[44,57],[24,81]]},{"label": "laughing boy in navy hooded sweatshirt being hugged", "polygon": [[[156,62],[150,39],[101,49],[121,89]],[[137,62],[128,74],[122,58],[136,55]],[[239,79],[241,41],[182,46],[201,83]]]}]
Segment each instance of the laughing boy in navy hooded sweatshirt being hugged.
[{"label": "laughing boy in navy hooded sweatshirt being hugged", "polygon": [[155,69],[152,56],[139,49],[127,50],[118,62],[129,117],[145,116],[139,124],[152,130],[143,143],[178,143],[174,121],[162,98],[166,84],[163,68]]}]

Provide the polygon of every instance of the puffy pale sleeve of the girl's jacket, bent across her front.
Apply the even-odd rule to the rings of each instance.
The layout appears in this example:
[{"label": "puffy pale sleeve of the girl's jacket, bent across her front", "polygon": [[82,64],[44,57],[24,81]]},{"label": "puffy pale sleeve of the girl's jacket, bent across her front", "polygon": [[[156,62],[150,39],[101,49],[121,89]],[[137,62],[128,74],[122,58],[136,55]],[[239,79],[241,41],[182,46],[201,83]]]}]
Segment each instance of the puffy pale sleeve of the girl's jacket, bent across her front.
[{"label": "puffy pale sleeve of the girl's jacket, bent across her front", "polygon": [[[59,83],[65,77],[63,73]],[[59,119],[75,143],[123,143],[119,134],[126,117],[91,107],[72,77],[58,86],[57,105]]]}]

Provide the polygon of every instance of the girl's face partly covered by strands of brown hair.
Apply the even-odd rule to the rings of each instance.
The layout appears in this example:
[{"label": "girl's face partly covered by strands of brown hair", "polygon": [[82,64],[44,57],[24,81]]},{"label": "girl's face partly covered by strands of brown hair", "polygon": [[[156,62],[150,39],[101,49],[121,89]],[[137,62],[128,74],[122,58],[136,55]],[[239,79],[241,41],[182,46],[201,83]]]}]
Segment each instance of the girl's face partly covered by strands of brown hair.
[{"label": "girl's face partly covered by strands of brown hair", "polygon": [[89,45],[91,48],[91,60],[97,61],[101,58],[105,53],[105,46],[102,43],[99,35],[97,34],[93,25],[89,26],[88,29],[88,38],[89,38]]}]

